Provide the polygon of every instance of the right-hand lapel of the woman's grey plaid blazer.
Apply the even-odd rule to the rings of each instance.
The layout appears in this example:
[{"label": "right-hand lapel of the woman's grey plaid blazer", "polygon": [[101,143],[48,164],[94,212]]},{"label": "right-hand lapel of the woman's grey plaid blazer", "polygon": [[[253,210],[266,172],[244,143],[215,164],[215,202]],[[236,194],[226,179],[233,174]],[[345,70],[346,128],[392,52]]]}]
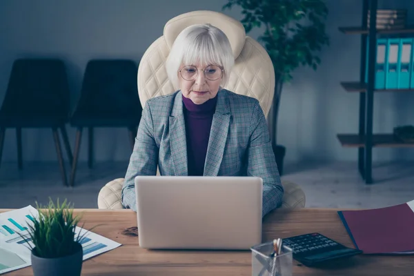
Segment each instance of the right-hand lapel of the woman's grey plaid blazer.
[{"label": "right-hand lapel of the woman's grey plaid blazer", "polygon": [[220,90],[217,97],[204,164],[205,176],[217,176],[219,173],[230,125],[230,108],[228,107],[226,90]]}]

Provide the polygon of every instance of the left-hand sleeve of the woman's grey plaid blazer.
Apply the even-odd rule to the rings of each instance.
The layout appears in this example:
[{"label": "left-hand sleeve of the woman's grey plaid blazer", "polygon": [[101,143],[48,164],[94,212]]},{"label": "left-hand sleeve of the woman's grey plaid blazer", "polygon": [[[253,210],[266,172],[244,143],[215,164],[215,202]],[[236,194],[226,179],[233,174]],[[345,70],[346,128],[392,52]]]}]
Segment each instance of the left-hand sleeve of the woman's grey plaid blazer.
[{"label": "left-hand sleeve of the woman's grey plaid blazer", "polygon": [[135,197],[135,177],[137,175],[156,175],[158,165],[158,146],[154,139],[154,128],[150,110],[150,101],[146,101],[139,122],[134,149],[126,170],[124,185],[121,191],[122,205],[137,211]]}]

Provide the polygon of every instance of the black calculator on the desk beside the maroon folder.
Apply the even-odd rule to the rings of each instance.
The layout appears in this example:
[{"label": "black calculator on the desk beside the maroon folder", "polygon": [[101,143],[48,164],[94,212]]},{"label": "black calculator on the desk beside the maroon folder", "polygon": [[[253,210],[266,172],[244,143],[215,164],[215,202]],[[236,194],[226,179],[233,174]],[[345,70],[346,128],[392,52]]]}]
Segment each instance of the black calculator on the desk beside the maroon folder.
[{"label": "black calculator on the desk beside the maroon folder", "polygon": [[283,245],[293,250],[293,259],[305,266],[315,266],[333,259],[361,254],[362,250],[348,248],[320,233],[309,233],[283,239]]}]

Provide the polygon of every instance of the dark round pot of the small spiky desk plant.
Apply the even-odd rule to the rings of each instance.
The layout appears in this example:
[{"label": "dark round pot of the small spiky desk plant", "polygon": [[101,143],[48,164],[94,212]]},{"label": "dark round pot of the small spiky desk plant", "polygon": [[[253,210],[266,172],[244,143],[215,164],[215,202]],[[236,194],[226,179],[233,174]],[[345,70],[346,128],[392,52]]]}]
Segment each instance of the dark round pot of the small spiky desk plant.
[{"label": "dark round pot of the small spiky desk plant", "polygon": [[41,258],[32,251],[33,276],[79,276],[83,262],[83,248],[77,243],[75,253],[59,258]]}]

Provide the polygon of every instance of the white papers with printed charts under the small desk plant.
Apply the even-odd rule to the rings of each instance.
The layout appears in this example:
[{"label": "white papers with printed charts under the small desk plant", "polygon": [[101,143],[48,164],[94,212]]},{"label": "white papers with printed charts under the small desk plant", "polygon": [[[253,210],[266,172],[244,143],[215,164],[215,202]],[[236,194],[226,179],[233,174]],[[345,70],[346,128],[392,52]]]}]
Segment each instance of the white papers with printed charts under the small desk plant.
[{"label": "white papers with printed charts under the small desk plant", "polygon": [[[31,219],[37,219],[39,213],[36,208],[27,206],[25,208],[0,213],[0,274],[30,266],[30,246],[32,242],[20,237],[19,234],[28,236],[28,225],[32,225]],[[101,235],[90,232],[89,230],[76,227],[75,238],[82,236],[81,244],[83,248],[83,260],[94,257],[101,253],[121,246]]]}]

